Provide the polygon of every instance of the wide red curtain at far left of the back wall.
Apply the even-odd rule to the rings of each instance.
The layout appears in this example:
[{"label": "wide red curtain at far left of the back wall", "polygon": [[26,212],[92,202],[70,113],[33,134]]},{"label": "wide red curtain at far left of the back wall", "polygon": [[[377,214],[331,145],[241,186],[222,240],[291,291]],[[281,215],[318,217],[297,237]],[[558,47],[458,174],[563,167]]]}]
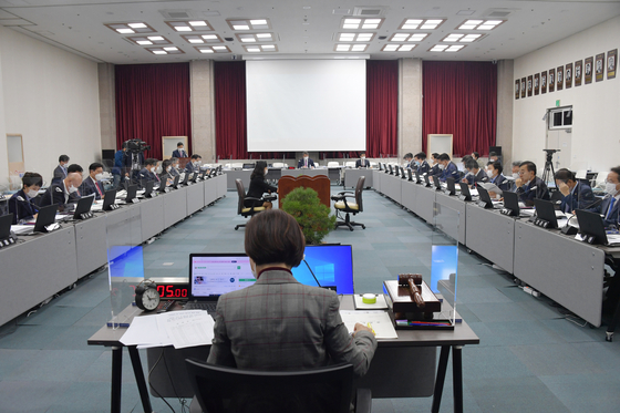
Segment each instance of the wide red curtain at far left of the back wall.
[{"label": "wide red curtain at far left of the back wall", "polygon": [[162,136],[187,136],[192,153],[189,63],[116,65],[115,82],[116,147],[142,140],[161,159]]}]

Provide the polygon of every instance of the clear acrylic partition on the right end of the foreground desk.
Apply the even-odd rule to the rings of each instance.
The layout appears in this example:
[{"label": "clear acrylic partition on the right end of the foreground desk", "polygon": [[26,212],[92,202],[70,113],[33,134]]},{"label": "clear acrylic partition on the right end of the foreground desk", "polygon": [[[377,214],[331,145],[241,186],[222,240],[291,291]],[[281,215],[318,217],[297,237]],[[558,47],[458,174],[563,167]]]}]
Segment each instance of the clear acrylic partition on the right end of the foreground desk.
[{"label": "clear acrylic partition on the right end of the foreground desk", "polygon": [[435,318],[451,320],[454,324],[456,312],[456,287],[458,273],[458,226],[459,211],[434,204],[434,231],[431,246],[431,282],[428,287],[451,306],[452,310],[435,314]]}]

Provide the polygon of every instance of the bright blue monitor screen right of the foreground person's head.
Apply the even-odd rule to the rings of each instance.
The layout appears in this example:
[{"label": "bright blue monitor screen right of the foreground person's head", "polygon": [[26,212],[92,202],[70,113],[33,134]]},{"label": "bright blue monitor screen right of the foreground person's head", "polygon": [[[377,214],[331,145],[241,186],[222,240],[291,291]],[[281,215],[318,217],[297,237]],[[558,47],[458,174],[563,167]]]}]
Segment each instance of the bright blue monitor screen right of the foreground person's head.
[{"label": "bright blue monitor screen right of the foreground person's head", "polygon": [[321,287],[335,286],[338,293],[354,293],[353,251],[350,245],[307,246],[304,252],[306,262],[301,261],[299,267],[292,269],[299,282],[317,287],[318,280]]}]

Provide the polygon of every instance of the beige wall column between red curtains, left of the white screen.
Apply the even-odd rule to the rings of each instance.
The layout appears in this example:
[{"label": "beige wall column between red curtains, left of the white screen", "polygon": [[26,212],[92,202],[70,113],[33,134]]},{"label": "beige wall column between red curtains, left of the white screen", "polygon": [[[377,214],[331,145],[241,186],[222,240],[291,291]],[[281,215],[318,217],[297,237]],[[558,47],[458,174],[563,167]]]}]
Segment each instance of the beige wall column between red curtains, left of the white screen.
[{"label": "beige wall column between red curtains, left of the white screen", "polygon": [[189,62],[192,94],[192,153],[203,156],[204,163],[216,162],[215,89],[211,60]]}]

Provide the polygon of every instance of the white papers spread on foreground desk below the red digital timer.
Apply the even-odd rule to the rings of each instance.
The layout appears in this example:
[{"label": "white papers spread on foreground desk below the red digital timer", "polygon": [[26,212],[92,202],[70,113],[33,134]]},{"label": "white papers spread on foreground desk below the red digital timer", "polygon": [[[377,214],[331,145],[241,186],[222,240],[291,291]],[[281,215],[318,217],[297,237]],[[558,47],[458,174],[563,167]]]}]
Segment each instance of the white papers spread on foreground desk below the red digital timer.
[{"label": "white papers spread on foreground desk below the red digital timer", "polygon": [[121,342],[138,349],[174,345],[175,349],[210,344],[214,319],[207,311],[184,310],[135,317]]}]

